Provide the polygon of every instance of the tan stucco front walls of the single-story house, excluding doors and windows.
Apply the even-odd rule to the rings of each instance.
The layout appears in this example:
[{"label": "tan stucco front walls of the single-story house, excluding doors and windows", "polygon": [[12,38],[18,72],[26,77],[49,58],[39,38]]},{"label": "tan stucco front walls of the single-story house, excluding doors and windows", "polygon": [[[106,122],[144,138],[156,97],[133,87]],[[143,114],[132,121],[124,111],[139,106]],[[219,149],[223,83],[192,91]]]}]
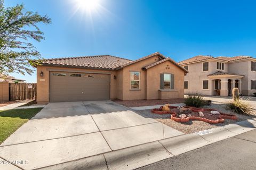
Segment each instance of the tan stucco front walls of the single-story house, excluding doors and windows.
[{"label": "tan stucco front walls of the single-story house, excluding doors and windows", "polygon": [[[90,72],[90,73],[110,73],[110,98],[121,100],[133,99],[158,99],[158,90],[160,86],[160,73],[174,74],[174,89],[172,92],[163,92],[164,98],[183,98],[184,71],[170,61],[151,67],[148,70],[142,70],[143,66],[149,65],[159,60],[159,56],[153,56],[146,60],[131,64],[117,71],[88,70],[56,66],[37,66],[37,102],[49,102],[49,71],[71,71],[71,72]],[[166,69],[166,65],[167,69]],[[170,68],[170,69],[168,69]],[[40,77],[43,71],[44,77]],[[140,89],[130,89],[130,72],[140,72]],[[114,79],[116,75],[116,79]],[[44,81],[40,81],[44,79]],[[178,91],[178,92],[177,92]],[[177,97],[178,96],[178,97]]]}]

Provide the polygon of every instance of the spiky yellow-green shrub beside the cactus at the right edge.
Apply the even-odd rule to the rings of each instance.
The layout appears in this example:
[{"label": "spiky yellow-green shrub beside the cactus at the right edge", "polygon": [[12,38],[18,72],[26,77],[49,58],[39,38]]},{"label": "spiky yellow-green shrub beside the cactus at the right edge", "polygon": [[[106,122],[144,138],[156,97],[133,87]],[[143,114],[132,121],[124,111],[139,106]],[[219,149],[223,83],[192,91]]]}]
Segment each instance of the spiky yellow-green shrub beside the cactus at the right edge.
[{"label": "spiky yellow-green shrub beside the cactus at the right edge", "polygon": [[253,108],[249,104],[248,99],[236,99],[236,100],[230,100],[228,107],[238,113],[238,114],[247,114],[247,115],[254,115]]}]

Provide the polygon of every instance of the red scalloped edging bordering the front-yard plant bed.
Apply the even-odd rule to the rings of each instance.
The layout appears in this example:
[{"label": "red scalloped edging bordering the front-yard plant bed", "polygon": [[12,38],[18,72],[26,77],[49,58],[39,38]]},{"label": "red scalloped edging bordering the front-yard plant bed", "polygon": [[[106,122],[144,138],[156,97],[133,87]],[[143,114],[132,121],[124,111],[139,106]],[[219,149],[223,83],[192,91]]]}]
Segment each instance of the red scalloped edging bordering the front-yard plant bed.
[{"label": "red scalloped edging bordering the front-yard plant bed", "polygon": [[[177,107],[169,106],[169,108],[172,109],[172,108],[177,108]],[[225,118],[230,119],[230,120],[237,120],[236,115],[226,114],[226,113],[221,113],[221,112],[220,112],[220,115],[217,118],[217,120],[209,120],[207,118],[199,117],[199,116],[190,116],[190,117],[180,118],[180,117],[177,116],[177,113],[175,113],[173,111],[163,111],[162,109],[163,109],[163,107],[154,108],[154,109],[151,110],[151,112],[155,113],[155,114],[171,114],[171,119],[173,121],[182,122],[182,123],[188,122],[189,120],[198,120],[198,121],[204,121],[206,123],[217,124],[217,123],[223,123],[225,121]],[[196,107],[189,107],[189,109],[192,112],[217,111],[215,109],[196,108]]]}]

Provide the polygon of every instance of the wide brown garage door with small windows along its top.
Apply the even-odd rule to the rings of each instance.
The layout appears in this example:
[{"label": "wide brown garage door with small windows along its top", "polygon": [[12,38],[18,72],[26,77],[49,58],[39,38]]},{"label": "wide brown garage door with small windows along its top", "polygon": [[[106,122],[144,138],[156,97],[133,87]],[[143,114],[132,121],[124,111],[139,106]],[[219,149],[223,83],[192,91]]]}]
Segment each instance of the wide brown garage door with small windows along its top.
[{"label": "wide brown garage door with small windows along its top", "polygon": [[110,75],[50,72],[50,101],[108,100]]}]

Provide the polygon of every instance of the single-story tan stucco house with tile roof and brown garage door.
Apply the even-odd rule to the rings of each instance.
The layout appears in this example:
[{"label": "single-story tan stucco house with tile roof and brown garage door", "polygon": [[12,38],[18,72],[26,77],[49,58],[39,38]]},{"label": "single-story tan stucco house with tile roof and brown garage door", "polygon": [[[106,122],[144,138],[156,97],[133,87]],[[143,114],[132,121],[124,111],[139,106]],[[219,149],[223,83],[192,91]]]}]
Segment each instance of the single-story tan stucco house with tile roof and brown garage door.
[{"label": "single-story tan stucco house with tile roof and brown garage door", "polygon": [[183,98],[186,73],[160,53],[47,59],[37,66],[37,102]]}]

